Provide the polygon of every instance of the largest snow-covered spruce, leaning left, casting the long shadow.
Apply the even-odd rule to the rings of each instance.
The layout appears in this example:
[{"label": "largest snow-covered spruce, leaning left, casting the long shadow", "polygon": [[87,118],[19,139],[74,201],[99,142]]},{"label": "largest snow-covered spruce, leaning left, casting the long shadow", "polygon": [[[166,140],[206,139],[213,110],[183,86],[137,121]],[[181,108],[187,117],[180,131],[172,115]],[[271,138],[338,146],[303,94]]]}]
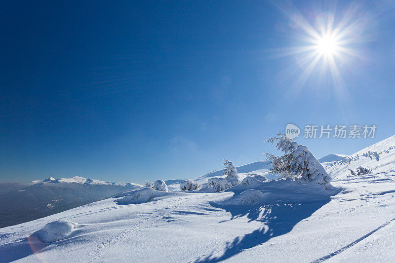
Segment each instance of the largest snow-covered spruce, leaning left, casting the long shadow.
[{"label": "largest snow-covered spruce, leaning left, casting the long shadow", "polygon": [[330,176],[307,146],[300,145],[281,133],[267,141],[272,145],[277,142],[276,148],[285,153],[282,156],[266,153],[268,159],[272,160],[273,169],[270,173],[281,175],[282,178],[315,182],[324,185],[326,189],[330,187]]}]

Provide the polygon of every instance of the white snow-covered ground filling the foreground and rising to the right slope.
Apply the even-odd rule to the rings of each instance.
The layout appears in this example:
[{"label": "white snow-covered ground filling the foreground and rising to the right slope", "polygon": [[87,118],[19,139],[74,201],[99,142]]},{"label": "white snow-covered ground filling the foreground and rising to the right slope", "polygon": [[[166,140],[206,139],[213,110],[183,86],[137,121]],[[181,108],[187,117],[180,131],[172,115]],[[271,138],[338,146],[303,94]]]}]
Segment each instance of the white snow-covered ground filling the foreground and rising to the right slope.
[{"label": "white snow-covered ground filling the foreground and rising to the right slope", "polygon": [[[395,149],[383,150],[394,140],[369,148],[382,152],[378,161],[362,157],[364,149],[355,161],[327,168],[335,178],[328,190],[276,179],[219,193],[152,191],[145,203],[109,198],[4,227],[0,261],[395,262]],[[252,171],[268,177],[265,165],[237,171],[241,179]],[[375,170],[346,174],[358,166]],[[205,183],[222,171],[194,181]],[[42,237],[50,229],[56,230]],[[60,240],[48,243],[47,236]]]}]

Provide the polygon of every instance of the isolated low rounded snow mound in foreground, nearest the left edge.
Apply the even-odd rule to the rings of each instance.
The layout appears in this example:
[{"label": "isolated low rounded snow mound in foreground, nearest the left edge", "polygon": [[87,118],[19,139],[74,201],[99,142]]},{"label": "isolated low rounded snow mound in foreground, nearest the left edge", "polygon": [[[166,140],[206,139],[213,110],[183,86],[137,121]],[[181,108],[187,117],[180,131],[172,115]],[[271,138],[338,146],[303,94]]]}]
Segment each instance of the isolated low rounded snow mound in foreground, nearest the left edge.
[{"label": "isolated low rounded snow mound in foreground, nearest the left edge", "polygon": [[46,224],[36,233],[41,242],[52,243],[68,238],[73,233],[77,225],[77,223],[68,220],[58,220]]}]

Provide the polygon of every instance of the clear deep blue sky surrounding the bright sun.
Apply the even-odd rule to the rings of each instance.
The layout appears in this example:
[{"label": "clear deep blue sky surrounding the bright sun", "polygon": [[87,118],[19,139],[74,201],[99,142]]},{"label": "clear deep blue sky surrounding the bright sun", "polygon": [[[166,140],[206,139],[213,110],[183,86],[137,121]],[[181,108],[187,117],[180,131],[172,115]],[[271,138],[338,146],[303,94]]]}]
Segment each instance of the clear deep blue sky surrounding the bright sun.
[{"label": "clear deep blue sky surrounding the bright sun", "polygon": [[[374,139],[296,139],[317,157],[395,134],[392,1],[2,1],[0,12],[0,181],[193,178],[224,158],[264,159],[275,150],[262,141],[287,123],[377,126]],[[306,45],[295,17],[314,28],[322,14],[352,25],[341,81],[323,60],[302,78],[307,54],[293,53]]]}]

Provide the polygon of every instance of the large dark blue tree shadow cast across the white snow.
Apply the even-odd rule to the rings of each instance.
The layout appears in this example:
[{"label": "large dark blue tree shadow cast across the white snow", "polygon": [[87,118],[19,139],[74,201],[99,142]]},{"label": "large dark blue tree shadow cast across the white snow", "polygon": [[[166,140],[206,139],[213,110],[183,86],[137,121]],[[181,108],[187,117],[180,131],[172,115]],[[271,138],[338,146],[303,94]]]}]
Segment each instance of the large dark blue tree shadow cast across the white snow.
[{"label": "large dark blue tree shadow cast across the white snow", "polygon": [[[233,198],[237,195],[235,193]],[[233,241],[227,242],[225,248],[221,250],[223,251],[222,255],[214,255],[215,251],[213,250],[211,254],[198,258],[196,262],[214,263],[224,261],[245,249],[253,248],[267,242],[273,237],[286,234],[298,222],[310,217],[316,210],[327,204],[330,201],[330,196],[324,196],[319,198],[319,200],[312,200],[311,202],[288,201],[281,200],[280,202],[262,205],[229,205],[210,202],[213,207],[225,209],[230,212],[232,215],[230,220],[246,216],[249,219],[248,222],[262,222],[262,226],[252,233],[238,236]]]}]

